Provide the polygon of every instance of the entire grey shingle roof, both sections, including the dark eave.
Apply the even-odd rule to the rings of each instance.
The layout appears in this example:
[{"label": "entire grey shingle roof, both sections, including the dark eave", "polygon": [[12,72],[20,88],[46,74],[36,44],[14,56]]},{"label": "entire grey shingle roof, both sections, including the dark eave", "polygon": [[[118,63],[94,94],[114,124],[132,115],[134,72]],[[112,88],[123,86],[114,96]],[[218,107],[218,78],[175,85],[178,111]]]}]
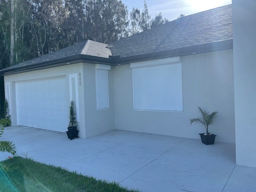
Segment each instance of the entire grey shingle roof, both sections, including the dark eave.
[{"label": "entire grey shingle roof, both sections, including the dark eave", "polygon": [[70,61],[117,65],[193,52],[206,53],[232,48],[232,39],[232,5],[227,5],[184,16],[109,45],[86,40],[7,67],[0,73],[61,66]]}]

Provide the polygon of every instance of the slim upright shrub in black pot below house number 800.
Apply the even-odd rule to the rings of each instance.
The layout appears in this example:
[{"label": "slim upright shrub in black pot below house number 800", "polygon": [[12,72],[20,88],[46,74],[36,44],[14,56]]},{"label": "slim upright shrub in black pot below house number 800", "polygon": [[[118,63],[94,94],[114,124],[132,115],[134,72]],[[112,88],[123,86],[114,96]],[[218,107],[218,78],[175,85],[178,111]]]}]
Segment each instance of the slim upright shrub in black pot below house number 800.
[{"label": "slim upright shrub in black pot below house number 800", "polygon": [[74,101],[70,102],[69,106],[69,123],[67,127],[67,137],[72,140],[74,138],[78,138],[78,130],[76,129],[76,121],[75,121],[75,113],[74,113]]}]

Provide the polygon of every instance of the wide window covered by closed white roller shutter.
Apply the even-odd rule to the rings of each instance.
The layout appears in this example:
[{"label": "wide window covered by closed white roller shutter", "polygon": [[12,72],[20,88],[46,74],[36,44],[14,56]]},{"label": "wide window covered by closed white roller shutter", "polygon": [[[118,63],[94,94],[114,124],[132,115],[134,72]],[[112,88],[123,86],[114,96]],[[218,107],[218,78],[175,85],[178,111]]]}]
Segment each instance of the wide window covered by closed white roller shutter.
[{"label": "wide window covered by closed white roller shutter", "polygon": [[130,64],[135,110],[182,111],[179,57]]}]

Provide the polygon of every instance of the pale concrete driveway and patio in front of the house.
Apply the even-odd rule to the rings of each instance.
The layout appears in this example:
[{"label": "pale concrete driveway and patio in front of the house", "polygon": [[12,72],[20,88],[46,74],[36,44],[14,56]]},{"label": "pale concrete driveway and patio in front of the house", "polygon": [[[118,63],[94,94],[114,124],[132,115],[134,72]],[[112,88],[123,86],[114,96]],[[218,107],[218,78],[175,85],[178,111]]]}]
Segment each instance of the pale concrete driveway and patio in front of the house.
[{"label": "pale concrete driveway and patio in front of the house", "polygon": [[[235,145],[113,130],[89,139],[6,127],[19,156],[142,192],[256,192],[256,168],[235,164]],[[9,154],[0,152],[0,160]]]}]

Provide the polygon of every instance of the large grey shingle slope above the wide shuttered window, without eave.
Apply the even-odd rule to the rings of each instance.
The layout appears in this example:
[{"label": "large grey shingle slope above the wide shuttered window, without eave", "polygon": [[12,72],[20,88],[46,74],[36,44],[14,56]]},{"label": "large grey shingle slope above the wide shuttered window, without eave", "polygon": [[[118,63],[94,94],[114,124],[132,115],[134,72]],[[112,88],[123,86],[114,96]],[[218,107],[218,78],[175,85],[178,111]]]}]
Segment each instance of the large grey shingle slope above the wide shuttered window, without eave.
[{"label": "large grey shingle slope above the wide shuttered window, without eave", "polygon": [[121,58],[230,40],[232,5],[195,13],[111,43]]}]

